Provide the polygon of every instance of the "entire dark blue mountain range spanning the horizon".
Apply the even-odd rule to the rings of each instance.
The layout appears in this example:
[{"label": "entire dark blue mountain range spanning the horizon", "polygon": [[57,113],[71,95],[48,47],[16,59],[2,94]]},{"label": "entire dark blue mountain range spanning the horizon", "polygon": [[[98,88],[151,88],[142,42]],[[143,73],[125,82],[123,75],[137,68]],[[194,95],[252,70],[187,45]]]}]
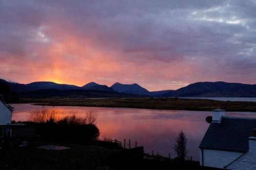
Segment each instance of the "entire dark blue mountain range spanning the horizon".
[{"label": "entire dark blue mountain range spanning the horizon", "polygon": [[[5,80],[3,80],[5,81]],[[84,86],[57,84],[53,82],[33,82],[19,84],[5,81],[11,90],[20,96],[51,97],[255,97],[256,85],[226,82],[197,82],[177,90],[148,91],[140,85],[115,83],[112,86],[95,82]],[[47,94],[48,93],[48,94]]]}]

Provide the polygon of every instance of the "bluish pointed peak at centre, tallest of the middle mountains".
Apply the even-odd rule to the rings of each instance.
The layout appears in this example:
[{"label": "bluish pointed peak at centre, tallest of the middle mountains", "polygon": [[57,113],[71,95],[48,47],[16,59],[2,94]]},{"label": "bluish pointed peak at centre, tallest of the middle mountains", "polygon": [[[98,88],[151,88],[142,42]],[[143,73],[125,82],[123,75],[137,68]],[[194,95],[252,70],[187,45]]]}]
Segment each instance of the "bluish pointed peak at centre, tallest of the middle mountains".
[{"label": "bluish pointed peak at centre, tallest of the middle mountains", "polygon": [[148,91],[147,89],[141,87],[136,83],[134,84],[115,83],[111,86],[111,88],[120,93],[150,95],[150,91]]}]

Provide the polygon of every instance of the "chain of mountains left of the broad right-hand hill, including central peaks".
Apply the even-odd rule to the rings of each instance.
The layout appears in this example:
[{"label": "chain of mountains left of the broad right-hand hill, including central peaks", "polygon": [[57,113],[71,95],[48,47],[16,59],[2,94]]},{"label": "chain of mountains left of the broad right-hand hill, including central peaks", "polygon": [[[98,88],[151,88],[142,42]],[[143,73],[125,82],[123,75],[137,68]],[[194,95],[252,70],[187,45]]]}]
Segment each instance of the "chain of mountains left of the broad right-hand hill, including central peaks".
[{"label": "chain of mountains left of the broad right-hand hill, including central peaks", "polygon": [[[3,80],[3,81],[5,81],[5,80]],[[36,96],[36,95],[46,96],[46,94],[41,94],[42,92],[45,93],[46,91],[48,91],[51,94],[51,96],[53,96],[53,95],[54,96],[59,96],[59,95],[64,96],[65,93],[68,93],[68,94],[73,93],[72,95],[74,95],[78,92],[83,93],[83,96],[90,96],[89,94],[87,94],[88,91],[94,91],[94,93],[97,91],[98,93],[101,92],[102,95],[99,94],[99,96],[101,96],[101,97],[105,97],[105,95],[106,95],[105,92],[112,93],[111,95],[110,94],[106,95],[108,97],[113,96],[114,93],[119,94],[120,97],[127,96],[125,94],[132,94],[132,96],[155,96],[155,94],[164,93],[162,91],[150,92],[138,84],[115,83],[111,87],[109,87],[106,85],[97,84],[95,82],[90,82],[84,86],[79,87],[79,86],[69,85],[69,84],[57,84],[54,82],[33,82],[33,83],[29,83],[29,84],[20,84],[20,83],[15,83],[15,82],[8,82],[8,81],[5,81],[5,82],[11,87],[11,90],[13,92],[15,92],[19,95],[22,95],[22,96],[25,96],[25,94],[29,95],[29,96]],[[69,91],[67,91],[67,90],[69,90]],[[73,91],[71,91],[71,90],[73,90]],[[76,90],[76,91],[74,91],[74,90]],[[65,91],[65,92],[63,92],[63,91]],[[102,92],[104,92],[104,95]],[[114,96],[118,97],[117,94],[115,94]],[[76,94],[76,95],[78,96],[78,94]],[[93,95],[93,96],[95,97],[95,95]],[[131,95],[129,95],[129,96],[131,96]]]}]

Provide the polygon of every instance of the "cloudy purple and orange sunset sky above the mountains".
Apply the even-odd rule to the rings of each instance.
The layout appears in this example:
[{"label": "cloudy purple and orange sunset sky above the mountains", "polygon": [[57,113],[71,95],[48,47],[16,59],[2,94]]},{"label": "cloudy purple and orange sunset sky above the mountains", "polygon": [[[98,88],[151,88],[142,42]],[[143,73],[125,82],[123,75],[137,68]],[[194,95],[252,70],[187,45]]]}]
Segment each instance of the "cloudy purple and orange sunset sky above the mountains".
[{"label": "cloudy purple and orange sunset sky above the mountains", "polygon": [[256,84],[256,0],[0,0],[0,78]]}]

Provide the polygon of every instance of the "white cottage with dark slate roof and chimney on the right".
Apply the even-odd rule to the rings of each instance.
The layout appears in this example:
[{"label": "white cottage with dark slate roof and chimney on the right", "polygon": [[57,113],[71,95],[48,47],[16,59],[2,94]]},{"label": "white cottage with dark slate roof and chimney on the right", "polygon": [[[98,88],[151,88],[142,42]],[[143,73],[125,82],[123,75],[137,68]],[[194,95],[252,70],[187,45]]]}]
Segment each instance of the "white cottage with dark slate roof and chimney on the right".
[{"label": "white cottage with dark slate roof and chimney on the right", "polygon": [[256,169],[256,118],[227,117],[224,110],[213,110],[199,148],[202,166]]}]

